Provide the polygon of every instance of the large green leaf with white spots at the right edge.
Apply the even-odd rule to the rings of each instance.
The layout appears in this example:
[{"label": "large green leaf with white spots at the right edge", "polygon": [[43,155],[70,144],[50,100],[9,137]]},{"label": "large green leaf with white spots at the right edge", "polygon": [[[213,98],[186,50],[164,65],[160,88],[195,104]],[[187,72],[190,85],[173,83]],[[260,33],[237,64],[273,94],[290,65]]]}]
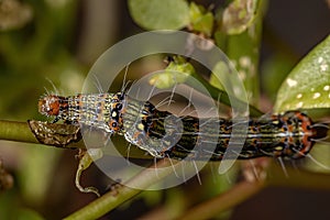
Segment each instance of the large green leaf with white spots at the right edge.
[{"label": "large green leaf with white spots at the right edge", "polygon": [[330,108],[330,35],[292,70],[277,94],[275,111]]}]

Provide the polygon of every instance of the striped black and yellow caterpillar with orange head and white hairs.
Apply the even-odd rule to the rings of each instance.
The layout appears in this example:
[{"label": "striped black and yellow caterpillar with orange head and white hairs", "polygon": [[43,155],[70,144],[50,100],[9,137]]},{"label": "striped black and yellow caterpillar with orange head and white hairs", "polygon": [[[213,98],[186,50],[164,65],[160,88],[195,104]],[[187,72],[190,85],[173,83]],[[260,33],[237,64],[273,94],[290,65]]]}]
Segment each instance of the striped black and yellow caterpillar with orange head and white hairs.
[{"label": "striped black and yellow caterpillar with orange head and white hairs", "polygon": [[[125,92],[77,96],[47,95],[38,100],[38,111],[54,121],[82,124],[125,140],[156,158],[220,161],[237,124],[222,118],[177,117],[158,110],[150,101],[140,101]],[[213,131],[207,124],[216,124]],[[201,124],[205,124],[200,131]],[[268,118],[249,119],[240,160],[273,156],[288,160],[305,157],[317,140],[327,136],[327,127],[318,127],[300,111],[287,111]],[[240,133],[240,132],[239,132]],[[242,132],[242,135],[244,132]],[[239,134],[240,135],[240,134]]]}]

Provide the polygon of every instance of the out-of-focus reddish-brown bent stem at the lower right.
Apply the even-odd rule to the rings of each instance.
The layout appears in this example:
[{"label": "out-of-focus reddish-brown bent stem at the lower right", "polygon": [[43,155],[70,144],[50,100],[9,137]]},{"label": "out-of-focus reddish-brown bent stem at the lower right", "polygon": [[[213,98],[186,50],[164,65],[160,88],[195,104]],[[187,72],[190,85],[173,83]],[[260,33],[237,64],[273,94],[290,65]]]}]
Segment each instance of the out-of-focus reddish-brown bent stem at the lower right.
[{"label": "out-of-focus reddish-brown bent stem at the lower right", "polygon": [[297,172],[297,169],[292,167],[286,167],[284,170],[275,162],[271,162],[264,172],[266,174],[264,179],[239,183],[224,194],[190,208],[178,219],[201,220],[215,218],[217,215],[232,209],[268,186],[306,188],[309,190],[330,189],[329,174],[308,170]]}]

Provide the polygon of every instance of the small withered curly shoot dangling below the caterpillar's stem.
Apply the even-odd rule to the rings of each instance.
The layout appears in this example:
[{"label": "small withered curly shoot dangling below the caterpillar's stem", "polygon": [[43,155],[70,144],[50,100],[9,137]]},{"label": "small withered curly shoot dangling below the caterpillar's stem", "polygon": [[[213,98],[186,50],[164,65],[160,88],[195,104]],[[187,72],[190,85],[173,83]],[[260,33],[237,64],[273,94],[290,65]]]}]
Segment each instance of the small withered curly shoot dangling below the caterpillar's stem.
[{"label": "small withered curly shoot dangling below the caterpillar's stem", "polygon": [[82,172],[85,169],[87,169],[90,164],[95,161],[98,160],[100,157],[102,157],[102,150],[100,148],[90,148],[88,151],[80,151],[79,152],[79,165],[76,172],[76,179],[75,179],[75,184],[76,187],[79,189],[79,191],[81,193],[92,193],[96,194],[98,197],[100,197],[99,190],[92,186],[90,187],[82,187],[80,185],[80,176],[82,174]]}]

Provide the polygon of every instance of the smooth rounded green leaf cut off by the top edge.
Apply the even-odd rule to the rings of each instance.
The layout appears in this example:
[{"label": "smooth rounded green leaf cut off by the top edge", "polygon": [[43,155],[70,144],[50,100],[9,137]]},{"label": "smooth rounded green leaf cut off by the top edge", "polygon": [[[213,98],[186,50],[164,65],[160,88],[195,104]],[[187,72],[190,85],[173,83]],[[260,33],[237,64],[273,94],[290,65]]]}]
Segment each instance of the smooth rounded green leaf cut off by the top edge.
[{"label": "smooth rounded green leaf cut off by the top edge", "polygon": [[146,30],[179,30],[189,23],[189,7],[184,0],[129,0],[129,9]]}]

